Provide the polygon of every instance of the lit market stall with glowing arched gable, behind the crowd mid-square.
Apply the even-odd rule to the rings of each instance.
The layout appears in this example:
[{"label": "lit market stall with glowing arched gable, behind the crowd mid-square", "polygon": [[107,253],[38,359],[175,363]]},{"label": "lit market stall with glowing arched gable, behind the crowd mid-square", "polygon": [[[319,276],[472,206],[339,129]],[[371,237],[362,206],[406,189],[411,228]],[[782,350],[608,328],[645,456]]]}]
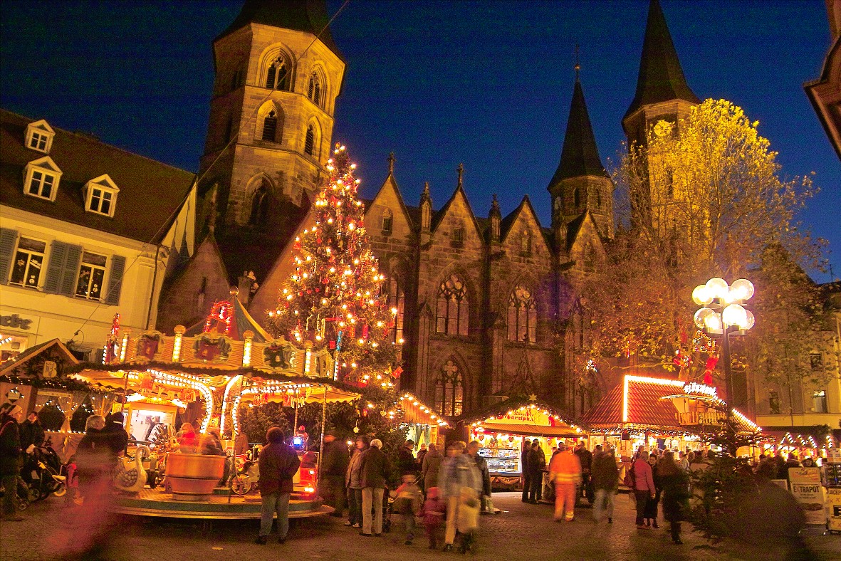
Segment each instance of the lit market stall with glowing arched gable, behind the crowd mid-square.
[{"label": "lit market stall with glowing arched gable, behind the crowd mid-square", "polygon": [[548,463],[558,443],[574,444],[588,435],[582,426],[536,400],[508,400],[492,411],[485,411],[468,423],[470,438],[481,444],[479,454],[488,462],[491,485],[497,490],[521,487],[526,439],[537,440]]}]

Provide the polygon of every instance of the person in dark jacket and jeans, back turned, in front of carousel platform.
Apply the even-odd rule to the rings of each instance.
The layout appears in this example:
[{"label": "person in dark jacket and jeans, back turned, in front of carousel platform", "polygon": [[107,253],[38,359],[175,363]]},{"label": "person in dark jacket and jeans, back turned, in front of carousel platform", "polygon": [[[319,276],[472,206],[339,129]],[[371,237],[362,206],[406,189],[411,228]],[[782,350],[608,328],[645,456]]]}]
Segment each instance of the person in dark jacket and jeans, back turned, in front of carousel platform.
[{"label": "person in dark jacket and jeans, back turned, in front of carousel platform", "polygon": [[289,532],[289,495],[292,494],[292,479],[298,473],[301,461],[298,454],[286,442],[283,431],[272,426],[266,432],[268,444],[260,453],[260,535],[257,543],[264,545],[272,532],[272,518],[278,513],[278,542],[286,542]]}]

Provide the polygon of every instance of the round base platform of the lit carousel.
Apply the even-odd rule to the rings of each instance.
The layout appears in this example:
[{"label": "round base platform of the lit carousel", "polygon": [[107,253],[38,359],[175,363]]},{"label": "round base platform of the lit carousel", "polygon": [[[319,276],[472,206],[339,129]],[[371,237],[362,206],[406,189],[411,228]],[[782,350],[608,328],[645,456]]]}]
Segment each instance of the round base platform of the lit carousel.
[{"label": "round base platform of the lit carousel", "polygon": [[[224,491],[224,490],[223,490]],[[293,495],[294,497],[294,495]],[[260,518],[260,495],[214,494],[209,500],[175,500],[172,493],[162,490],[144,489],[136,495],[117,495],[111,511],[135,516],[159,516],[165,518],[194,518],[204,520],[249,520]],[[321,499],[289,500],[289,518],[324,516],[333,507],[321,504]]]}]

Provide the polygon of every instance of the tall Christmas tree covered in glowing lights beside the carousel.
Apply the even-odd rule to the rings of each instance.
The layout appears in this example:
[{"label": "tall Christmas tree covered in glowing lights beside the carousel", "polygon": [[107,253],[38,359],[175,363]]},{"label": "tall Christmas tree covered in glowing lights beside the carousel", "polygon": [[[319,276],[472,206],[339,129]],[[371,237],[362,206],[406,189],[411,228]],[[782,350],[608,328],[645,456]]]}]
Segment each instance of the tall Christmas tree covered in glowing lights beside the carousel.
[{"label": "tall Christmas tree covered in glowing lights beside the carousel", "polygon": [[267,314],[267,328],[294,343],[311,341],[314,351],[335,351],[337,379],[389,387],[397,310],[380,294],[385,277],[365,232],[355,168],[336,145],[329,181],[315,199],[315,226],[295,238],[295,272]]}]

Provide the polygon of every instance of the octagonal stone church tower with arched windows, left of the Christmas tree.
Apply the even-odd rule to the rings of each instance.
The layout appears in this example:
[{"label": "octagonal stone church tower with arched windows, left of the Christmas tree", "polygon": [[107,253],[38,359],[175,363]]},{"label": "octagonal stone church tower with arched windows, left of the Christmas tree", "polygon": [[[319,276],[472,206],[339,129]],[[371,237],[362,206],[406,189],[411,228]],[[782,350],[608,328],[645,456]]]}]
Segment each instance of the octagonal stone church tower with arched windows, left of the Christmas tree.
[{"label": "octagonal stone church tower with arched windows, left of the Christmas tree", "polygon": [[324,0],[246,0],[214,40],[199,192],[205,201],[217,193],[220,241],[265,245],[309,207],[345,71],[327,22]]}]

